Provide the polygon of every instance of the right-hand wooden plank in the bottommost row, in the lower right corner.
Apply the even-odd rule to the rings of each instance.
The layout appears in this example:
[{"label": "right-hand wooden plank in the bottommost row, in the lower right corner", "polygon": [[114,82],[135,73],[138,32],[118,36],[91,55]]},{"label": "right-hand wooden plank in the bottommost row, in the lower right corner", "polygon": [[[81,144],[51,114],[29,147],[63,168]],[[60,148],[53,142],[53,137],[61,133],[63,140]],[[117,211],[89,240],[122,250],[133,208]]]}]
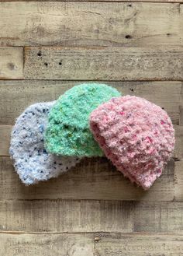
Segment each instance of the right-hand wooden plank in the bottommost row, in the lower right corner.
[{"label": "right-hand wooden plank in the bottommost row, in the lower right corner", "polygon": [[99,234],[95,243],[97,256],[181,256],[183,235]]}]

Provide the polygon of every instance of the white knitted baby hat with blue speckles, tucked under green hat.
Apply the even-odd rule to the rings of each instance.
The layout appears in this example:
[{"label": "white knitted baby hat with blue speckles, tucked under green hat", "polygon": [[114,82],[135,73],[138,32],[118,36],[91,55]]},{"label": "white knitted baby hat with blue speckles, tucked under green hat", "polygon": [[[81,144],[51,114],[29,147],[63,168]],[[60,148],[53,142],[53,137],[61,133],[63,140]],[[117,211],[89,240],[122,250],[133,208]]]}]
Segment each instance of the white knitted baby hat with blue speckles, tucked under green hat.
[{"label": "white knitted baby hat with blue speckles, tucked under green hat", "polygon": [[43,132],[53,105],[54,102],[31,105],[17,118],[12,129],[9,153],[24,184],[57,177],[80,161],[77,157],[54,156],[44,149]]}]

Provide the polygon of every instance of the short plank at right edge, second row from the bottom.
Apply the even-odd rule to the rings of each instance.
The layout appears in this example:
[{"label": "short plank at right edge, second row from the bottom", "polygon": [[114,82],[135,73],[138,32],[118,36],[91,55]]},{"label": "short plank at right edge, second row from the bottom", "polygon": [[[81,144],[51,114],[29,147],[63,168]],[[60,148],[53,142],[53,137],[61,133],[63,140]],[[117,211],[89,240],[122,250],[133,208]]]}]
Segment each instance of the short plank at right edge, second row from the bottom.
[{"label": "short plank at right edge, second row from the bottom", "polygon": [[134,202],[134,231],[183,233],[183,204],[180,202]]}]

